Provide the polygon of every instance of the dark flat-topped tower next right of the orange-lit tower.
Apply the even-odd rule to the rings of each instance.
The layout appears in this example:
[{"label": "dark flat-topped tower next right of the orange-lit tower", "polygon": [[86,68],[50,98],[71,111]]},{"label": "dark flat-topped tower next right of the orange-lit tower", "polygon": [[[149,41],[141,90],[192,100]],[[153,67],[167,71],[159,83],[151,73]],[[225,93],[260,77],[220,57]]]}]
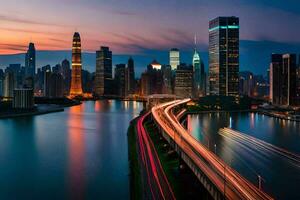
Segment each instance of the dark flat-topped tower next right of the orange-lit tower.
[{"label": "dark flat-topped tower next right of the orange-lit tower", "polygon": [[103,96],[111,92],[112,52],[109,47],[101,47],[96,52],[95,95]]}]

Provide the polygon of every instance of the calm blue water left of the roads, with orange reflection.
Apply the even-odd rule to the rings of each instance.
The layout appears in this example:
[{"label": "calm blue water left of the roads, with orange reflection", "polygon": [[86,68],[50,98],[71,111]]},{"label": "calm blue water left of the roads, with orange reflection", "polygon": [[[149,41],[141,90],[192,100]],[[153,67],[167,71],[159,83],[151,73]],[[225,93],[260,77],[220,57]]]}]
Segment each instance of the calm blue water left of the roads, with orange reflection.
[{"label": "calm blue water left of the roads, with orange reflection", "polygon": [[129,199],[126,133],[141,109],[85,102],[0,120],[0,199]]}]

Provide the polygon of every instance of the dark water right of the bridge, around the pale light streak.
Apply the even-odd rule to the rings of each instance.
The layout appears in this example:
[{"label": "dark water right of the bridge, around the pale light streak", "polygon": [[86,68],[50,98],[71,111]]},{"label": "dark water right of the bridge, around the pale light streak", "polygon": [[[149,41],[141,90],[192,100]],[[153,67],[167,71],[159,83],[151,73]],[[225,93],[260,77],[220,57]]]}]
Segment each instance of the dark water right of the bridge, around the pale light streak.
[{"label": "dark water right of the bridge, around the pale light streak", "polygon": [[[265,191],[276,199],[300,199],[300,166],[275,153],[218,134],[231,127],[300,155],[300,123],[254,113],[215,113],[188,117],[190,132],[211,151],[257,185],[264,179]],[[215,148],[216,144],[216,148]]]}]

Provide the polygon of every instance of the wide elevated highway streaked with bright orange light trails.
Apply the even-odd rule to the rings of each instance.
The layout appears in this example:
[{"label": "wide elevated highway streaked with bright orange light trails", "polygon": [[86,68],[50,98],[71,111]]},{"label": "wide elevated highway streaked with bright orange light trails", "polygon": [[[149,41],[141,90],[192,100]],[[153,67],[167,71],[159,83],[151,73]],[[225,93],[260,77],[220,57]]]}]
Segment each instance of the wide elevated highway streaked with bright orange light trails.
[{"label": "wide elevated highway streaked with bright orange light trails", "polygon": [[184,99],[160,104],[153,107],[151,113],[157,124],[223,193],[226,199],[273,199],[210,152],[180,124],[173,109],[189,101],[190,99]]}]

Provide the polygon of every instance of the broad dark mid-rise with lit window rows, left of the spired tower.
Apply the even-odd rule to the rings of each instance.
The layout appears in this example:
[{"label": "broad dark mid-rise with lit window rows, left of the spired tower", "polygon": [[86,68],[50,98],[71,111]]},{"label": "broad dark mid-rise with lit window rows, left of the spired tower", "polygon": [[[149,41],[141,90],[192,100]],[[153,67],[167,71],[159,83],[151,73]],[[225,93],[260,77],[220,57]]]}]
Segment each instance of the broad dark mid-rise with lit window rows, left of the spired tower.
[{"label": "broad dark mid-rise with lit window rows, left of the spired tower", "polygon": [[175,75],[175,95],[186,98],[193,94],[193,66],[180,64]]}]

